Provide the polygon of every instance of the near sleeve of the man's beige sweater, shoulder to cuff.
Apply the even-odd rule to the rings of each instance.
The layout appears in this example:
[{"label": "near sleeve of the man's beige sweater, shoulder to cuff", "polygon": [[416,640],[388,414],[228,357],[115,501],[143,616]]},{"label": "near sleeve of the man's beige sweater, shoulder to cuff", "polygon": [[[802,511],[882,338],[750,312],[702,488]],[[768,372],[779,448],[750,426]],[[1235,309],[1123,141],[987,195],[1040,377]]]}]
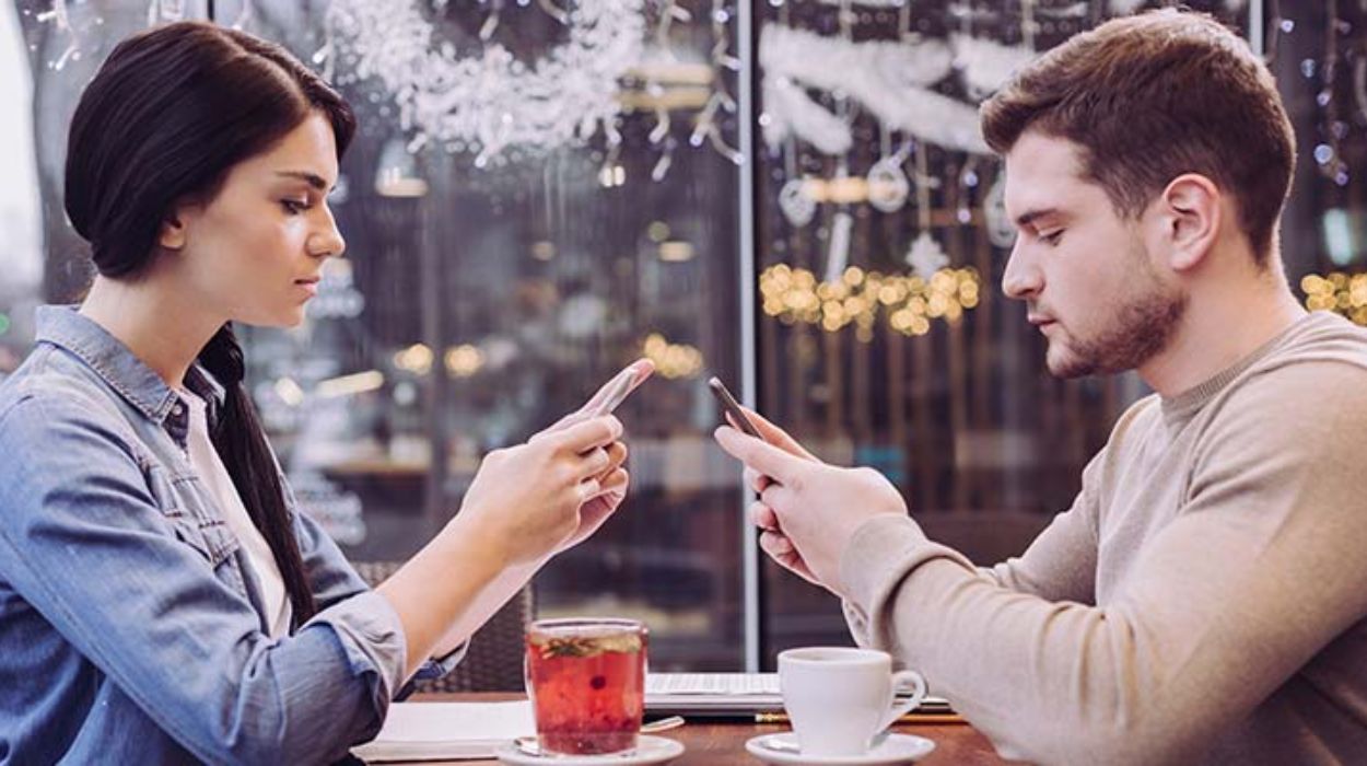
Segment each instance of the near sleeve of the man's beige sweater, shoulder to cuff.
[{"label": "near sleeve of the man's beige sweater, shoulder to cuff", "polygon": [[1155,477],[1185,480],[1185,499],[1105,607],[1012,590],[880,517],[842,557],[850,611],[1005,755],[1199,756],[1367,613],[1364,383],[1301,364],[1232,393],[1188,476]]}]

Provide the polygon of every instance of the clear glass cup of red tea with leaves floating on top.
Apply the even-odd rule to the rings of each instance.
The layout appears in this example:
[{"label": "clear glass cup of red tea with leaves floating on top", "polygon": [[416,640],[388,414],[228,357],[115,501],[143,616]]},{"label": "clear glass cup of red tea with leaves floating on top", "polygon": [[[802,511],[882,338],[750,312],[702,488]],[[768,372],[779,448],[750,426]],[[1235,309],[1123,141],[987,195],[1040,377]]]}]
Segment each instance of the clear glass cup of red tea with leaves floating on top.
[{"label": "clear glass cup of red tea with leaves floating on top", "polygon": [[537,620],[526,631],[526,694],[537,744],[556,755],[636,748],[648,631],[636,620]]}]

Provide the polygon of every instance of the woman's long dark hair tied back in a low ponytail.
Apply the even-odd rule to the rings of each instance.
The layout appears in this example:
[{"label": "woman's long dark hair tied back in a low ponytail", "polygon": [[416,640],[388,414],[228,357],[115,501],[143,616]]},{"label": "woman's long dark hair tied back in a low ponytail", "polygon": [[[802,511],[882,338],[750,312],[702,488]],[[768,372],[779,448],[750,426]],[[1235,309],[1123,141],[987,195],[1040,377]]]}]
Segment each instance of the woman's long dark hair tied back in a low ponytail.
[{"label": "woman's long dark hair tied back in a low ponytail", "polygon": [[[81,96],[67,144],[67,216],[90,242],[98,272],[137,278],[157,256],[176,205],[213,200],[234,166],[269,150],[314,112],[332,123],[340,157],[355,133],[351,108],[279,45],[205,22],[157,26],[120,42]],[[231,324],[198,361],[227,390],[213,445],[302,624],[317,607],[279,466],[242,386]]]}]

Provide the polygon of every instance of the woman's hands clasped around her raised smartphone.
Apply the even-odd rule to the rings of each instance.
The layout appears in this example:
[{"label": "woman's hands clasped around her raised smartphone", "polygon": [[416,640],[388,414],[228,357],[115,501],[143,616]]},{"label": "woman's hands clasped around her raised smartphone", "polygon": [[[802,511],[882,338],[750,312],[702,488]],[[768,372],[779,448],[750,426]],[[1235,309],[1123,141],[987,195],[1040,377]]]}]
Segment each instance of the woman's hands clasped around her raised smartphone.
[{"label": "woman's hands clasped around her raised smartphone", "polygon": [[621,503],[622,423],[592,417],[484,457],[457,517],[504,565],[532,564],[588,538]]}]

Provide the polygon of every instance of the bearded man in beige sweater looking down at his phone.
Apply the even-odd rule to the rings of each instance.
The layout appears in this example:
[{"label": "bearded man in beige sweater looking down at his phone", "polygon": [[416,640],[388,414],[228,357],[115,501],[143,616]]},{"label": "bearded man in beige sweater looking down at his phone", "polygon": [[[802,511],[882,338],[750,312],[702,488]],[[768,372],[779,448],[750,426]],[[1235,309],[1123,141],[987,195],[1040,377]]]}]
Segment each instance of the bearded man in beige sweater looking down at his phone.
[{"label": "bearded man in beige sweater looking down at his phone", "polygon": [[1137,369],[1083,490],[976,569],[871,469],[719,428],[760,543],[845,599],[1003,755],[1367,762],[1367,332],[1307,315],[1277,226],[1293,137],[1207,16],[1113,21],[984,104],[1018,227],[1002,286],[1054,375]]}]

